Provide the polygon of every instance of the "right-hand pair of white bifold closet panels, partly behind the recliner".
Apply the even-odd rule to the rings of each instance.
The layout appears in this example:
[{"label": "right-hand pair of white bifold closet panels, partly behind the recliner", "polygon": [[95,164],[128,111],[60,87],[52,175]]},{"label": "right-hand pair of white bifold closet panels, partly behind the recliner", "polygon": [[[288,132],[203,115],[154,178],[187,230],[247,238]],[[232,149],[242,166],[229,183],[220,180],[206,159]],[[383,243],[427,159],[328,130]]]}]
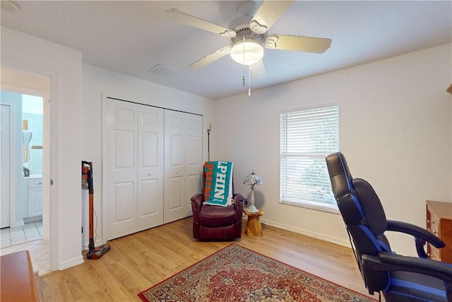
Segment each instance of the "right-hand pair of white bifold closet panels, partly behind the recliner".
[{"label": "right-hand pair of white bifold closet panels, partly behind the recliner", "polygon": [[165,223],[191,216],[190,197],[201,192],[203,117],[165,110]]}]

